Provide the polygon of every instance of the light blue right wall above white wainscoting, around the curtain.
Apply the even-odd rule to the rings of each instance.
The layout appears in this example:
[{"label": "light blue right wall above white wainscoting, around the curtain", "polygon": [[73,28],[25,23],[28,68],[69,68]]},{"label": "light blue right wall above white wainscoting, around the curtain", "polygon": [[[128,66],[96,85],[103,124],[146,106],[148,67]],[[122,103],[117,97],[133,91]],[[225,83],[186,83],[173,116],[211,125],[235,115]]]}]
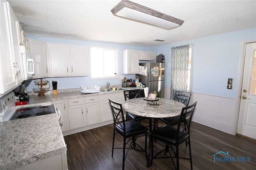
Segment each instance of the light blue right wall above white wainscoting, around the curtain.
[{"label": "light blue right wall above white wainscoting, around the curtain", "polygon": [[[240,83],[237,82],[240,43],[254,38],[256,28],[250,28],[157,45],[151,51],[165,55],[165,87],[170,88],[171,47],[192,44],[192,92],[235,98],[236,88]],[[227,89],[228,78],[233,78],[232,89]]]}]

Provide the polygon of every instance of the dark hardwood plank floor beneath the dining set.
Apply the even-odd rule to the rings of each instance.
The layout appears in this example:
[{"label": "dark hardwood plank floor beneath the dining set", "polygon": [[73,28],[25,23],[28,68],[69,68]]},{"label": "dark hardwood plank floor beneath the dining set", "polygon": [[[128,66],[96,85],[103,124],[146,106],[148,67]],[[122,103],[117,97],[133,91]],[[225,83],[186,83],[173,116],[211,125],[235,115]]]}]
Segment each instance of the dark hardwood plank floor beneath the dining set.
[{"label": "dark hardwood plank floor beneath the dining set", "polygon": [[[148,125],[147,120],[142,124]],[[161,125],[161,123],[160,123]],[[113,125],[94,128],[84,132],[64,136],[68,152],[69,170],[120,170],[122,169],[122,149],[114,149],[111,157]],[[137,139],[143,145],[144,137]],[[256,141],[242,136],[233,136],[219,130],[192,122],[191,125],[192,163],[194,170],[255,170]],[[122,137],[116,136],[115,146],[122,146]],[[162,150],[160,142],[154,144],[154,153]],[[214,154],[220,153],[220,160],[214,163]],[[188,147],[180,145],[180,155],[188,155]],[[239,159],[238,159],[239,158]],[[243,160],[243,161],[242,161]],[[174,160],[176,161],[176,160]],[[229,161],[229,162],[228,162]],[[144,152],[129,150],[125,160],[126,170],[166,170],[174,169],[170,159],[154,159],[151,167],[146,167]],[[180,169],[190,169],[189,160],[180,160]]]}]

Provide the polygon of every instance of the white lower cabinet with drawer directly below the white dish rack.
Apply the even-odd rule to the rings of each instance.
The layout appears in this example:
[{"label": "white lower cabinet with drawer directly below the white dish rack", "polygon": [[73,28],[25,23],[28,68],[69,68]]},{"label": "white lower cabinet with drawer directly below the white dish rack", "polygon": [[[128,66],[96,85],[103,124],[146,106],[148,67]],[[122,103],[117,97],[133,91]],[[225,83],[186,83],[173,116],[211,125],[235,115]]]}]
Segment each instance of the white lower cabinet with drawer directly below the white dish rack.
[{"label": "white lower cabinet with drawer directly below the white dish rack", "polygon": [[100,112],[98,96],[85,97],[86,125],[95,125],[100,123]]}]

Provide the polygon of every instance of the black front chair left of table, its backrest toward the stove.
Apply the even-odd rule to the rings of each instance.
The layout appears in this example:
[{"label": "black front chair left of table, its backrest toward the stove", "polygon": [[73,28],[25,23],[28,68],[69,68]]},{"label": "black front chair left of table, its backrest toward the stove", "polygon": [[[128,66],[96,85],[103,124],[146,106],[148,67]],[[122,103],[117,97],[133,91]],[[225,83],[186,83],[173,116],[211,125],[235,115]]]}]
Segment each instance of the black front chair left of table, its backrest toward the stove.
[{"label": "black front chair left of table, its backrest toward the stove", "polygon": [[[120,134],[123,136],[123,146],[122,147],[116,147],[116,148],[122,148],[123,149],[123,159],[122,159],[122,169],[124,170],[124,161],[126,159],[126,156],[128,154],[129,149],[137,150],[140,152],[145,152],[146,159],[147,159],[147,131],[148,128],[141,125],[140,123],[131,120],[131,121],[125,121],[124,119],[124,111],[122,108],[121,103],[117,103],[115,101],[112,101],[109,99],[110,107],[113,113],[113,118],[114,118],[114,134],[113,134],[113,143],[112,143],[112,157],[113,157],[113,152],[114,152],[114,140],[116,134]],[[136,144],[136,138],[139,136],[145,136],[145,146],[144,149],[139,145]],[[130,138],[126,142],[126,138]],[[126,145],[129,144],[128,148],[126,148]],[[140,149],[136,149],[136,146],[138,146]],[[125,150],[127,152],[125,153]]]}]

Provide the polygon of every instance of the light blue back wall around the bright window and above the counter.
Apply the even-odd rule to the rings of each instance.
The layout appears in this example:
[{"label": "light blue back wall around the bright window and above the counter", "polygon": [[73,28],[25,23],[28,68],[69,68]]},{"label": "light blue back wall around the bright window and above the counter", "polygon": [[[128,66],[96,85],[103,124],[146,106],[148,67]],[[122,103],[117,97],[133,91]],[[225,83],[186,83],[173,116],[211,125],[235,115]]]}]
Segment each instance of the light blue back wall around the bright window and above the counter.
[{"label": "light blue back wall around the bright window and above the counter", "polygon": [[[51,38],[51,37],[42,37],[42,36],[28,36],[28,38],[33,40],[38,40],[41,42],[48,42],[48,43],[62,43],[62,44],[70,44],[70,45],[95,45],[100,47],[114,47],[119,49],[118,53],[118,71],[119,75],[124,75],[124,77],[135,79],[135,75],[125,75],[122,74],[122,50],[124,49],[134,49],[134,50],[142,50],[142,51],[150,51],[150,47],[142,47],[136,45],[124,45],[118,43],[107,43],[107,42],[94,42],[94,41],[84,41],[84,40],[71,40],[71,39],[64,39],[64,38]],[[89,50],[88,50],[89,56]],[[116,79],[98,79],[98,80],[90,80],[89,76],[84,77],[52,77],[52,78],[45,78],[46,80],[50,81],[50,90],[52,90],[52,81],[58,81],[58,89],[72,89],[72,88],[79,88],[80,85],[97,85],[102,86],[106,85],[106,82],[110,82],[111,85],[122,84],[122,81],[117,77]],[[33,88],[37,88],[34,84],[34,80],[37,79],[30,79],[26,81],[27,91],[33,91]]]}]

